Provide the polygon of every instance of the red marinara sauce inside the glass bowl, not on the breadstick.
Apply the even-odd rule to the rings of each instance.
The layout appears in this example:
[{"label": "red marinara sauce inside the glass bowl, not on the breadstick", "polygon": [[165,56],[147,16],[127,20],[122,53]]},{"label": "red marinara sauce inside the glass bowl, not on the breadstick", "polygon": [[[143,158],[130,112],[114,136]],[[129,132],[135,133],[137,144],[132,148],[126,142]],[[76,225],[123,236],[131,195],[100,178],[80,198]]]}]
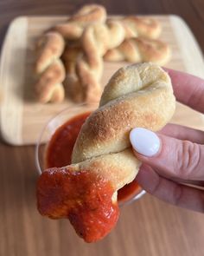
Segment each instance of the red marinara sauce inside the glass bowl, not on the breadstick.
[{"label": "red marinara sauce inside the glass bowl, not on the breadstick", "polygon": [[[71,164],[73,146],[80,128],[90,112],[74,116],[58,128],[48,143],[46,152],[46,168],[64,167]],[[118,201],[124,202],[142,191],[137,181],[132,181],[118,191]]]}]

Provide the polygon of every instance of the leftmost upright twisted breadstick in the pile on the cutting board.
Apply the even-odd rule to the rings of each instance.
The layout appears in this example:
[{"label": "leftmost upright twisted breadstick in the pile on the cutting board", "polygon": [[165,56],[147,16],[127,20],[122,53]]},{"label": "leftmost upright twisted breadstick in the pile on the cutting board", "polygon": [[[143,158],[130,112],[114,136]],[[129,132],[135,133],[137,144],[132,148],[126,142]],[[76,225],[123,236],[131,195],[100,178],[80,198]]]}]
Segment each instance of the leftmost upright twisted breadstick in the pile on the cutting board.
[{"label": "leftmost upright twisted breadstick in the pile on the cutting board", "polygon": [[37,43],[35,91],[39,102],[61,102],[64,99],[61,82],[65,79],[65,69],[60,60],[64,46],[63,37],[56,32],[44,34]]}]

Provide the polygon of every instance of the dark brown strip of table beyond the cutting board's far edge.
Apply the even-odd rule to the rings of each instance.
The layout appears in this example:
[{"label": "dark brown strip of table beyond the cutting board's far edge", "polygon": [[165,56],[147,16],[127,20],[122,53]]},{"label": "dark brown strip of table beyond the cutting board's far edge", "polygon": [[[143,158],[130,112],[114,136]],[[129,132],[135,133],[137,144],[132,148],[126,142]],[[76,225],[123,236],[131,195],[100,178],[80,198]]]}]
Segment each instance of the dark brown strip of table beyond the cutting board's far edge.
[{"label": "dark brown strip of table beyond the cutting board's far edge", "polygon": [[[1,4],[1,43],[10,21],[16,16],[27,15],[67,15],[85,3],[93,1],[0,1]],[[201,35],[203,25],[203,1],[202,0],[143,0],[143,1],[98,1],[105,6],[109,14],[175,14],[182,16],[188,23],[194,36],[204,47],[204,38]]]}]

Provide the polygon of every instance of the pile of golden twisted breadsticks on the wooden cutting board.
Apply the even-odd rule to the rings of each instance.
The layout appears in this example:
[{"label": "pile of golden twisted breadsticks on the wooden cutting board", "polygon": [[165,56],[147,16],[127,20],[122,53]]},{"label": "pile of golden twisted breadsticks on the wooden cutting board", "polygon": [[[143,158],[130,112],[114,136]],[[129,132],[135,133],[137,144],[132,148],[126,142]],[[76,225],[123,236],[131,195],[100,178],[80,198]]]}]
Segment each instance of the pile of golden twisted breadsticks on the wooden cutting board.
[{"label": "pile of golden twisted breadsticks on the wooden cutting board", "polygon": [[107,18],[99,4],[88,4],[45,32],[36,45],[35,92],[42,103],[99,102],[104,61],[169,61],[161,25],[152,18]]}]

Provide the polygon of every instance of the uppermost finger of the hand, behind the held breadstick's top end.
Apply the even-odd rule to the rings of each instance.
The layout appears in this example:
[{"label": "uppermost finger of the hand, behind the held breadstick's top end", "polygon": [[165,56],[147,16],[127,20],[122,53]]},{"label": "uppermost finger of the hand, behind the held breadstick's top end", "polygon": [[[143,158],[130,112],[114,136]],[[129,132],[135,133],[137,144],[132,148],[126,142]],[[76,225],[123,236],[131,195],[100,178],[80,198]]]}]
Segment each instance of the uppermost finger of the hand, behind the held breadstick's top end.
[{"label": "uppermost finger of the hand, behind the held breadstick's top end", "polygon": [[204,113],[204,80],[181,71],[166,69],[178,102]]}]

